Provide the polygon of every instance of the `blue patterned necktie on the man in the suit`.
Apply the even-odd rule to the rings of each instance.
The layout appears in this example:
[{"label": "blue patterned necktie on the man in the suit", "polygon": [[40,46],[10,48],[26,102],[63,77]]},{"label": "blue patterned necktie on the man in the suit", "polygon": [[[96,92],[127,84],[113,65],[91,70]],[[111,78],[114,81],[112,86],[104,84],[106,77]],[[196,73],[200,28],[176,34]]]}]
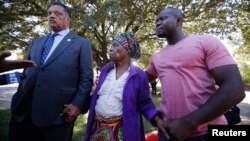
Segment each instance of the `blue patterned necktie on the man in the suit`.
[{"label": "blue patterned necktie on the man in the suit", "polygon": [[41,57],[41,64],[42,65],[45,63],[45,59],[47,58],[49,51],[54,43],[54,39],[57,35],[58,35],[58,33],[50,34],[49,38],[45,42],[45,44],[43,46],[42,57]]}]

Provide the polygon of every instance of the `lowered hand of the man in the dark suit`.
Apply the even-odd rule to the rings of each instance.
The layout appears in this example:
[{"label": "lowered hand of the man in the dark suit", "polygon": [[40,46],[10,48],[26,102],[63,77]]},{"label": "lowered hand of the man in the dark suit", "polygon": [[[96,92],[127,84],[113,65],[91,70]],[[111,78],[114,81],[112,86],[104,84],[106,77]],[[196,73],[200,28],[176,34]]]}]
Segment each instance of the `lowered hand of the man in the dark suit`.
[{"label": "lowered hand of the man in the dark suit", "polygon": [[65,104],[61,116],[65,117],[65,120],[69,123],[74,122],[81,114],[81,110],[73,104]]}]

